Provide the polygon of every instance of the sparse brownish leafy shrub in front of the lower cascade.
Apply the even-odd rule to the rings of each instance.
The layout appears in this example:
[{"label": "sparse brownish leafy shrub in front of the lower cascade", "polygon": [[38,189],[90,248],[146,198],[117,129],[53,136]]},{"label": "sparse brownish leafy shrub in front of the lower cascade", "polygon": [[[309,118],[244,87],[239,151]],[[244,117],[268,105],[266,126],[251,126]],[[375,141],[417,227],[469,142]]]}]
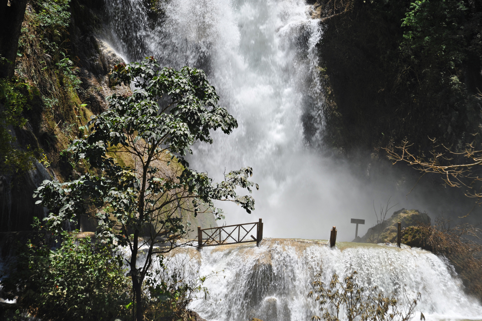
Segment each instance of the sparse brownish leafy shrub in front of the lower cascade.
[{"label": "sparse brownish leafy shrub in front of the lower cascade", "polygon": [[365,288],[357,281],[356,271],[343,281],[334,274],[326,287],[319,272],[313,282],[315,292],[308,293],[308,297],[316,295],[315,301],[319,302],[322,315],[315,315],[311,320],[407,321],[412,318],[420,293],[415,298],[409,297],[407,293],[403,293],[402,298],[397,298],[394,293],[386,296],[376,286]]}]

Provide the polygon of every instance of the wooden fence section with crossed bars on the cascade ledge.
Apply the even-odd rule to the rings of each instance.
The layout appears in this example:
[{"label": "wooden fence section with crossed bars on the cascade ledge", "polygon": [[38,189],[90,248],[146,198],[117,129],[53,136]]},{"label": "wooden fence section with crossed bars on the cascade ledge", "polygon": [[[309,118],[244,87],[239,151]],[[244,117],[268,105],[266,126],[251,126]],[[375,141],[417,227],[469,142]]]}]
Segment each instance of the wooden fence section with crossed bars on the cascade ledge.
[{"label": "wooden fence section with crossed bars on the cascade ledge", "polygon": [[[253,234],[256,234],[256,237]],[[198,247],[256,242],[263,239],[263,222],[203,228],[198,226]]]}]

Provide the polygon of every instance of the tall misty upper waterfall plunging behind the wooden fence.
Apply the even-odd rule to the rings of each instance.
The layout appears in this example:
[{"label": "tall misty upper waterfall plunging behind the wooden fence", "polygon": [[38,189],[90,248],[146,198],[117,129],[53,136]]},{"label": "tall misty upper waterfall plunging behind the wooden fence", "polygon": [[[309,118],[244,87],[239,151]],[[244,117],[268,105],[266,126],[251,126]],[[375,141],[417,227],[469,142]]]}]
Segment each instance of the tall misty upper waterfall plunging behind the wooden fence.
[{"label": "tall misty upper waterfall plunging behind the wooden fence", "polygon": [[212,145],[194,146],[190,165],[217,180],[225,170],[250,166],[260,187],[251,215],[217,204],[226,223],[261,217],[265,236],[302,238],[328,238],[336,225],[344,240],[354,237],[348,215],[372,223],[373,200],[386,201],[393,192],[366,188],[343,164],[319,154],[322,30],[319,20],[308,18],[310,6],[304,0],[159,3],[153,17],[145,1],[106,1],[108,41],[128,61],[152,55],[162,66],[206,70],[239,127],[230,135],[214,132]]}]

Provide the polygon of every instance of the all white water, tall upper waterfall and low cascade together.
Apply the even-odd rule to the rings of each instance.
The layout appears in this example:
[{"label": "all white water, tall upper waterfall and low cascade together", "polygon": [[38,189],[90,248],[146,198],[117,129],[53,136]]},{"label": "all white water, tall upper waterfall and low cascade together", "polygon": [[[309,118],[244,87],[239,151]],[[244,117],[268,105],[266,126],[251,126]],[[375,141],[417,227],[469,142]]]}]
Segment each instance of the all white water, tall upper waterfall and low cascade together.
[{"label": "all white water, tall upper waterfall and low cascade together", "polygon": [[[247,215],[219,204],[227,222],[262,217],[265,237],[327,238],[336,225],[339,238],[351,239],[348,214],[368,219],[364,209],[392,192],[364,188],[343,166],[310,149],[314,141],[322,145],[323,98],[316,46],[322,31],[308,18],[309,6],[302,0],[160,3],[161,18],[153,23],[145,1],[106,1],[110,41],[128,60],[152,55],[164,66],[206,70],[221,104],[238,119],[231,135],[214,133],[214,144],[196,146],[190,159],[191,167],[215,178],[225,168],[253,167],[260,185],[256,210]],[[310,139],[303,117],[318,124]],[[319,269],[327,280],[357,270],[363,284],[386,292],[405,285],[422,294],[418,309],[431,319],[482,318],[482,307],[463,293],[449,266],[417,249],[352,245],[340,251],[273,239],[260,248],[205,248],[199,262],[190,262],[201,275],[224,270],[225,279],[206,281],[213,303],[195,306],[214,320],[309,320],[316,309],[306,296]]]}]

